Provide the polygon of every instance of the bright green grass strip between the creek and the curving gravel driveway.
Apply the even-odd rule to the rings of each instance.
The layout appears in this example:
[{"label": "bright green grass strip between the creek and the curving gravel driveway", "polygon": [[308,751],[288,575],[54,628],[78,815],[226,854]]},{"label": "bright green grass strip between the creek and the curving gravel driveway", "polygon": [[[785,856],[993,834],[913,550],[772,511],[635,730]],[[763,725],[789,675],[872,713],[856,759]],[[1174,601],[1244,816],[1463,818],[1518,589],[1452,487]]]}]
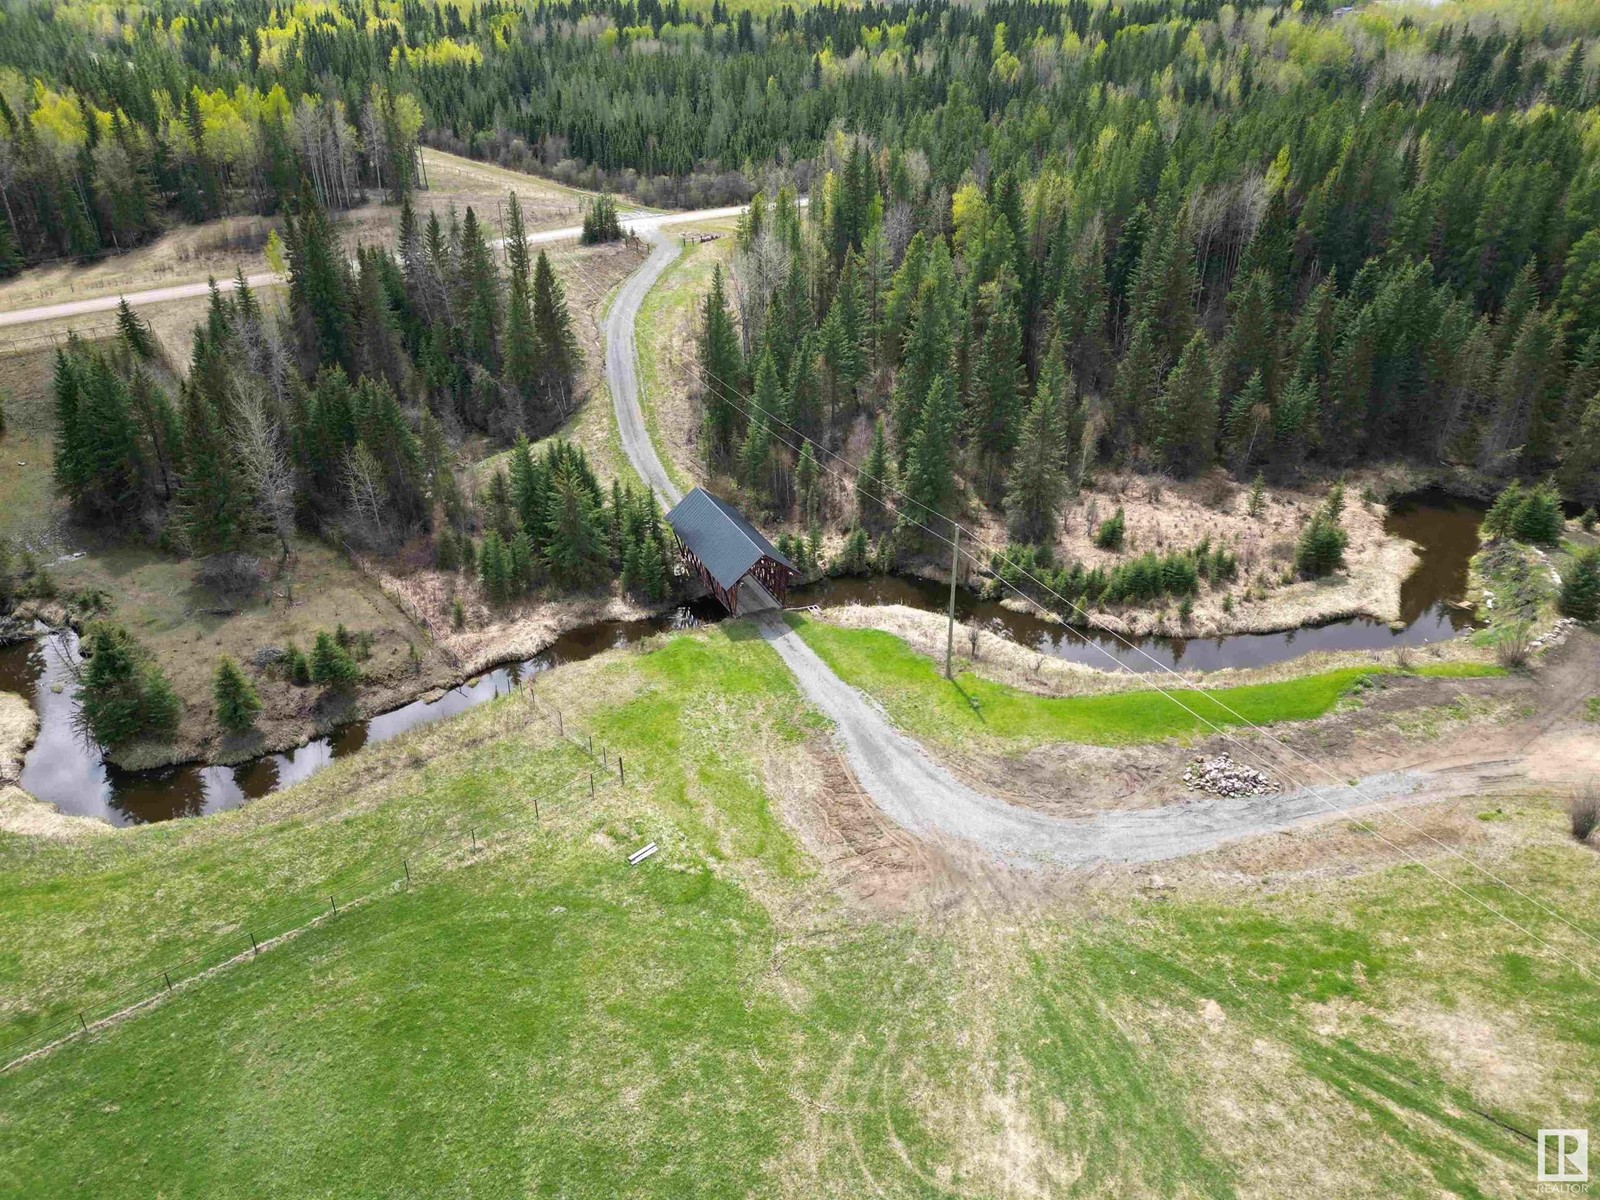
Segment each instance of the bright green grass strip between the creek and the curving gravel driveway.
[{"label": "bright green grass strip between the creek and the curving gravel driveway", "polygon": [[[1013,742],[1069,741],[1128,746],[1205,734],[1211,726],[1310,720],[1330,712],[1352,688],[1390,667],[1346,667],[1282,683],[1198,691],[1182,688],[1178,704],[1160,691],[1048,698],[963,672],[947,682],[938,666],[906,642],[874,629],[842,629],[789,618],[846,682],[877,698],[894,722],[922,738],[962,741],[989,736]],[[1464,678],[1499,674],[1474,662],[1418,667],[1414,674]]]}]

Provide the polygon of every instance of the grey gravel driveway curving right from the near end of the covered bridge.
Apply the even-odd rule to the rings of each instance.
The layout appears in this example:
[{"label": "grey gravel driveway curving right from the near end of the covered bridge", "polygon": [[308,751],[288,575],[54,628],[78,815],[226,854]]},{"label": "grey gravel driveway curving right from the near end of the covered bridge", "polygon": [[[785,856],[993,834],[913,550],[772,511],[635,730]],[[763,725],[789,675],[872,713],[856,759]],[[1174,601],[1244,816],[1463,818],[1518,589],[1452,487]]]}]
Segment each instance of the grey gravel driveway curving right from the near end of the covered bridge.
[{"label": "grey gravel driveway curving right from the near end of the covered bridge", "polygon": [[950,776],[872,701],[838,678],[782,618],[763,618],[760,629],[806,699],[834,722],[861,787],[878,808],[915,834],[973,842],[1014,866],[1090,867],[1182,858],[1235,838],[1394,802],[1426,781],[1418,773],[1394,773],[1363,779],[1362,792],[1307,787],[1278,795],[1205,797],[1093,818],[1046,816],[995,800]]}]

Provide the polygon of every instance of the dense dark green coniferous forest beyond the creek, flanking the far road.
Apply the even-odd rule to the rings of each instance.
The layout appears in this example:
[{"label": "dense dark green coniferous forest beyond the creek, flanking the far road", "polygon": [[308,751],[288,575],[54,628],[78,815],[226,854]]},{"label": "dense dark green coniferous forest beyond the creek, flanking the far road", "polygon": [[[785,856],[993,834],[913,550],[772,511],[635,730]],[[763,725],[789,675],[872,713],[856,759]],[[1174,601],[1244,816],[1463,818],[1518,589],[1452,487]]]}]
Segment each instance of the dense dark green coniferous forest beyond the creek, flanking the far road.
[{"label": "dense dark green coniferous forest beyond the creek, flanking the far road", "polygon": [[[754,197],[701,322],[701,450],[802,522],[826,467],[802,438],[862,429],[856,512],[832,515],[869,530],[893,485],[1046,544],[1101,464],[1277,480],[1408,456],[1592,502],[1597,26],[1205,0],[26,5],[0,26],[0,264],[288,214],[290,325],[218,296],[179,395],[131,315],[122,350],[62,355],[62,486],[197,554],[307,520],[394,541],[437,509],[459,558],[442,430],[510,443],[571,411],[547,261],[509,230],[502,267],[470,211],[413,218],[419,141],[654,203]],[[368,192],[405,205],[400,245],[352,267],[328,211]],[[208,496],[221,459],[250,486]],[[566,557],[560,512],[610,523],[613,565],[622,526],[659,544],[648,501],[608,499],[576,451],[514,466],[490,517],[507,578]]]}]

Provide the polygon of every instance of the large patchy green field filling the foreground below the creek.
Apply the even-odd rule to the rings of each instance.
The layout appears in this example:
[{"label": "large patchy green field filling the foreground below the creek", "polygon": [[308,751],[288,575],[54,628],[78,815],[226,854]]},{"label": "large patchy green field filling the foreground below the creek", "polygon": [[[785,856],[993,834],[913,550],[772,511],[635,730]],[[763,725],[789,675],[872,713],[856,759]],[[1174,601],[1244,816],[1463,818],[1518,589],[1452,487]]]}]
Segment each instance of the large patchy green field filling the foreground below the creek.
[{"label": "large patchy green field filling the foreground below the creek", "polygon": [[1525,931],[1414,866],[877,910],[805,848],[826,726],[749,627],[538,688],[626,787],[509,698],[222,819],[0,835],[10,1037],[62,973],[493,830],[0,1074],[0,1194],[1525,1195],[1506,1125],[1600,1123],[1592,944],[1534,904],[1600,874],[1547,797],[1483,826],[1528,899],[1435,864]]}]

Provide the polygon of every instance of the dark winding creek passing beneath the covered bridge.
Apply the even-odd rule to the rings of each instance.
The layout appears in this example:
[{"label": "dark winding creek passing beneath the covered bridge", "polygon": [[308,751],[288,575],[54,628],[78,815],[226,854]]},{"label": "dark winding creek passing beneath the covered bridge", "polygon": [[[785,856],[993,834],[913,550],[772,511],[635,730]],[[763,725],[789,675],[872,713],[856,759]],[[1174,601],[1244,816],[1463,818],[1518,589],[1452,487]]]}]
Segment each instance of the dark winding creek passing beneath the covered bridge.
[{"label": "dark winding creek passing beneath the covered bridge", "polygon": [[[963,622],[1008,637],[1040,653],[1146,672],[1162,667],[1216,670],[1259,667],[1317,650],[1382,650],[1418,646],[1470,629],[1467,613],[1450,605],[1467,587],[1467,565],[1478,546],[1483,509],[1443,493],[1421,493],[1390,506],[1386,528],[1422,549],[1422,562],[1400,592],[1403,629],[1379,621],[1338,621],[1283,634],[1235,634],[1219,638],[1130,638],[1054,624],[1030,613],[1013,613],[976,592],[957,589],[955,614]],[[826,579],[789,594],[790,605],[909,605],[944,611],[949,587],[906,576]],[[77,637],[51,634],[0,646],[0,691],[30,696],[40,715],[40,736],[22,766],[22,787],[66,813],[98,816],[112,824],[142,824],[234,808],[278,787],[299,782],[334,758],[355,754],[405,730],[474,707],[512,690],[528,675],[557,662],[592,658],[654,634],[715,621],[720,610],[698,602],[670,616],[643,621],[602,621],[557,638],[544,653],[486,672],[438,699],[414,701],[365,722],[352,722],[296,750],[270,754],[238,766],[184,765],[158,771],[123,771],[106,763],[75,728],[70,662]],[[59,685],[59,691],[56,690]]]}]

